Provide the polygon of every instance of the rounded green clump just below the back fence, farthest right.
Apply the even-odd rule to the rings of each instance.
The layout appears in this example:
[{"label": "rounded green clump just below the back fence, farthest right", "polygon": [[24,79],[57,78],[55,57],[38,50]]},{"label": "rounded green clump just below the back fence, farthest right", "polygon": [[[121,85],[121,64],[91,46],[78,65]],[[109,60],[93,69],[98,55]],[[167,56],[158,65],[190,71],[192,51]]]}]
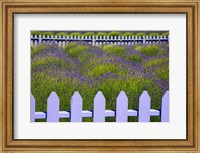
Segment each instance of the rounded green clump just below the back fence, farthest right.
[{"label": "rounded green clump just below the back fence, farthest right", "polygon": [[142,52],[147,56],[157,55],[158,51],[159,51],[158,45],[148,45],[142,48]]}]

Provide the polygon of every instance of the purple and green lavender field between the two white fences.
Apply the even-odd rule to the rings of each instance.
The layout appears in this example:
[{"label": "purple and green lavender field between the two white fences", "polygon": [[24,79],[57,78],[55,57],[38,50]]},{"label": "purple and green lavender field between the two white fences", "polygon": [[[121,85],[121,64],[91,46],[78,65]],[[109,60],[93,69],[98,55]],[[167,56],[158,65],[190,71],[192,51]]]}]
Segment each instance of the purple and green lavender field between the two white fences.
[{"label": "purple and green lavender field between the two white fences", "polygon": [[[115,110],[120,91],[126,92],[129,109],[138,108],[138,98],[144,90],[151,97],[151,108],[159,109],[162,95],[169,90],[168,43],[100,48],[72,42],[65,49],[44,43],[31,47],[31,60],[31,92],[36,111],[46,111],[52,91],[60,98],[60,110],[70,110],[75,91],[83,98],[84,110],[93,109],[97,91],[103,92],[106,109]],[[83,121],[90,122],[92,118]],[[115,118],[106,117],[106,121],[115,122]],[[128,121],[137,121],[137,117],[129,117]],[[151,121],[160,119],[151,117]]]}]

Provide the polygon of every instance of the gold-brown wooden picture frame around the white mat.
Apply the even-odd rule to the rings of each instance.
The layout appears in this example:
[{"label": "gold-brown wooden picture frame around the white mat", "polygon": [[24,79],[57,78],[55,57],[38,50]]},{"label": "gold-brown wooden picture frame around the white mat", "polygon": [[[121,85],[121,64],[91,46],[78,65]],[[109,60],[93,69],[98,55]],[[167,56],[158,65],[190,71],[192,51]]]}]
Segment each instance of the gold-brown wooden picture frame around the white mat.
[{"label": "gold-brown wooden picture frame around the white mat", "polygon": [[[200,152],[199,0],[1,0],[0,152]],[[187,18],[187,138],[185,140],[15,140],[14,14],[164,13]]]}]

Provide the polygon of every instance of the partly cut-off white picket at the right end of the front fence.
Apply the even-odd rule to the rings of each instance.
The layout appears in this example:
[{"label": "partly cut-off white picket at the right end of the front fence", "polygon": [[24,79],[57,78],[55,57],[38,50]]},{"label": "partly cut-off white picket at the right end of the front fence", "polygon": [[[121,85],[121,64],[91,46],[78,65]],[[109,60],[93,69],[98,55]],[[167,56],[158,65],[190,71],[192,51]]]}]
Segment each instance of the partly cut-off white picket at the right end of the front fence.
[{"label": "partly cut-off white picket at the right end of the front fence", "polygon": [[161,122],[169,122],[169,91],[162,97]]}]

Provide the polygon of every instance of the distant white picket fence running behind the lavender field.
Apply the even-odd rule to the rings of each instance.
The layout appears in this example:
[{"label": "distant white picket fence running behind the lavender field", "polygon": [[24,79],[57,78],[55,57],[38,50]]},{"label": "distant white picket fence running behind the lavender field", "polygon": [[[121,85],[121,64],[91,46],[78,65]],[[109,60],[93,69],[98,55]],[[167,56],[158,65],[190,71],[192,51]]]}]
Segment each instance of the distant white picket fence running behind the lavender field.
[{"label": "distant white picket fence running behind the lavender field", "polygon": [[169,42],[169,36],[54,36],[31,35],[31,45],[38,46],[41,43],[55,43],[60,47],[70,42],[86,42],[92,46],[102,47],[106,44],[135,45]]}]

